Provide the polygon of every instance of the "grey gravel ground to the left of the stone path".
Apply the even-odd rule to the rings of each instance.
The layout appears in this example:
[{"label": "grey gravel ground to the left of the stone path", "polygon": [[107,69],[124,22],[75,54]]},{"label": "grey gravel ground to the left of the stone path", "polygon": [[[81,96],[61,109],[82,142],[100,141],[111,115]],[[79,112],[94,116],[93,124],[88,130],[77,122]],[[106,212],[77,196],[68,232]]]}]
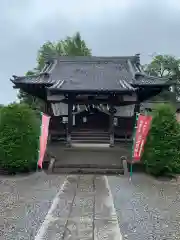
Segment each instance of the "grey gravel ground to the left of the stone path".
[{"label": "grey gravel ground to the left of the stone path", "polygon": [[0,177],[0,240],[34,239],[65,176]]}]

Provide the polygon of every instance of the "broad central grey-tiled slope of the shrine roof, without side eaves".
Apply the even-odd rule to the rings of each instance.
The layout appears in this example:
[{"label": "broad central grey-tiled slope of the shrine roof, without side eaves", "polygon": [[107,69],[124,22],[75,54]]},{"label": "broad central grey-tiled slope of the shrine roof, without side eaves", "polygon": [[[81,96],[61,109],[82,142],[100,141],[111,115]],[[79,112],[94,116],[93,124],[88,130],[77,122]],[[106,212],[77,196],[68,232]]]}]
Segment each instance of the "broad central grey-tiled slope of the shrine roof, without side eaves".
[{"label": "broad central grey-tiled slope of the shrine roof, without side eaves", "polygon": [[[132,61],[132,64],[129,61]],[[130,65],[132,70],[130,70]],[[133,91],[134,57],[60,57],[51,73],[51,88],[62,90]],[[63,84],[61,84],[63,80]],[[57,83],[56,83],[57,82]]]}]

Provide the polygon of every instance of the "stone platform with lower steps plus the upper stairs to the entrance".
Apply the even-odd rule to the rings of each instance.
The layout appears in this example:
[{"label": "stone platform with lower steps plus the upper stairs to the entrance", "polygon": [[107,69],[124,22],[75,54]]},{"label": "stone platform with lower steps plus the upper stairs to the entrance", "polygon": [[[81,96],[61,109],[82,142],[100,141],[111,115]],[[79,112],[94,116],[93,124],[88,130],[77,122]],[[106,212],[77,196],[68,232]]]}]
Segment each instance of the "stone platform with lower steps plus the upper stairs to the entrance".
[{"label": "stone platform with lower steps plus the upper stairs to the entrance", "polygon": [[73,129],[70,147],[62,141],[49,142],[43,169],[54,159],[50,170],[54,174],[123,174],[121,157],[130,159],[131,148],[129,142],[116,142],[111,148],[108,131]]}]

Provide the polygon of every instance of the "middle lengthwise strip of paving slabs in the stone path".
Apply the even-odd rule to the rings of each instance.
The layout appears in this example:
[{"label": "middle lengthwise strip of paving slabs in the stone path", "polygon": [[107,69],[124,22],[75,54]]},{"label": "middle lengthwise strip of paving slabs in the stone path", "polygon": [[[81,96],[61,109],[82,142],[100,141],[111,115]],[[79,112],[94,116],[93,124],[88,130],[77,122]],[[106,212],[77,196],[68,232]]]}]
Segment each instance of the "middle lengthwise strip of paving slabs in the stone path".
[{"label": "middle lengthwise strip of paving slabs in the stone path", "polygon": [[95,199],[93,182],[94,176],[79,176],[76,195],[67,222],[64,239],[93,239]]}]

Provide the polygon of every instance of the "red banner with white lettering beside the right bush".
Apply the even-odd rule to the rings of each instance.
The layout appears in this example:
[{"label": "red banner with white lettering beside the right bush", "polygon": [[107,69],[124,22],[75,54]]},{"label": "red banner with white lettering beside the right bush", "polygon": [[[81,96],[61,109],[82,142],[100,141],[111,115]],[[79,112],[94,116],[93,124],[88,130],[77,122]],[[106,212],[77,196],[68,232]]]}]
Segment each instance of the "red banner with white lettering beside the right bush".
[{"label": "red banner with white lettering beside the right bush", "polygon": [[140,161],[141,159],[144,144],[150,129],[151,120],[151,116],[139,115],[133,149],[134,161]]}]

